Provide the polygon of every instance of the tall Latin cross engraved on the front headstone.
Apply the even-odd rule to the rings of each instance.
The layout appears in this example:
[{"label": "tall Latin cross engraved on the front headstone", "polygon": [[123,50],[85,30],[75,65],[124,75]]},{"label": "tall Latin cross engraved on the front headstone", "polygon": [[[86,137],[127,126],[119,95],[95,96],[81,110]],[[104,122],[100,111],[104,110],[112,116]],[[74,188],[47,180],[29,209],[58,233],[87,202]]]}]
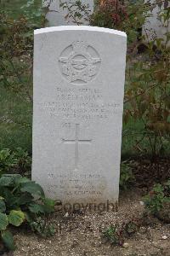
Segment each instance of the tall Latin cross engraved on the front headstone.
[{"label": "tall Latin cross engraved on the front headstone", "polygon": [[66,140],[66,139],[62,139],[63,143],[75,143],[75,169],[77,169],[78,166],[78,160],[79,160],[79,151],[78,151],[78,145],[81,143],[91,143],[92,140],[81,140],[79,139],[79,131],[80,131],[80,125],[76,124],[76,135],[75,135],[75,139],[73,140]]}]

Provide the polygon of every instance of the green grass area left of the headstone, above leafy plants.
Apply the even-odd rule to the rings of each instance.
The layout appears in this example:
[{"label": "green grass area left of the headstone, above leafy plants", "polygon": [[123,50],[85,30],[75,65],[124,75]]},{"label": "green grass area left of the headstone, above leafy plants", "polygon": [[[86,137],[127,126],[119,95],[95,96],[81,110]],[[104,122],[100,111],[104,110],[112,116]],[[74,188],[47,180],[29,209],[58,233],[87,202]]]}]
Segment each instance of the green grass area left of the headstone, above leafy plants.
[{"label": "green grass area left of the headstone, above leafy plants", "polygon": [[31,103],[0,88],[0,149],[21,147],[31,152]]}]

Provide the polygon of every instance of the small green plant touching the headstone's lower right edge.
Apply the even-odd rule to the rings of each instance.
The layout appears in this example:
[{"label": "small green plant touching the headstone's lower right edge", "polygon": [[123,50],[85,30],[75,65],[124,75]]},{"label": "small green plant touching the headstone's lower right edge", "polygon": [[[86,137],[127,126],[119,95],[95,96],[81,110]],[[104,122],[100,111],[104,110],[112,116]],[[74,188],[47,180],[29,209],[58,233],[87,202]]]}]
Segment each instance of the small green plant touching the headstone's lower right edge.
[{"label": "small green plant touching the headstone's lower right edge", "polygon": [[123,161],[121,163],[121,174],[120,174],[120,189],[126,190],[127,187],[133,182],[133,172],[130,166],[130,163]]}]

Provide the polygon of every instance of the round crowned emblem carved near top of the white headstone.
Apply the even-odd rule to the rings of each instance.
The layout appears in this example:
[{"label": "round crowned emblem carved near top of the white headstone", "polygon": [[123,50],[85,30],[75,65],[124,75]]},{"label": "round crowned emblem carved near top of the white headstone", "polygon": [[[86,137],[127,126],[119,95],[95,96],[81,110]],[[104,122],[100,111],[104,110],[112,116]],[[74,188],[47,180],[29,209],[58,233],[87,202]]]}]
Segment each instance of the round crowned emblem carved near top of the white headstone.
[{"label": "round crowned emblem carved near top of the white headstone", "polygon": [[76,41],[65,48],[59,57],[61,73],[71,84],[87,84],[99,72],[98,52],[86,42]]}]

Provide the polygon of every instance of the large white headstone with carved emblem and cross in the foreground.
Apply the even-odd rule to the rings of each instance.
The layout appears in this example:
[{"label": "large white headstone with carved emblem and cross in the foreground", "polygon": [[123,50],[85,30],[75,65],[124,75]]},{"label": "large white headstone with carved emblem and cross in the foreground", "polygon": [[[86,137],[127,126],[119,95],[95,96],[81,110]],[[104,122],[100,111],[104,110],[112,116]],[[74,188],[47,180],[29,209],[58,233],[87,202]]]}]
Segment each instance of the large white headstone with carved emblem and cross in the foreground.
[{"label": "large white headstone with carved emblem and cross in the foreground", "polygon": [[35,31],[32,179],[48,197],[117,201],[126,44],[106,28]]}]

